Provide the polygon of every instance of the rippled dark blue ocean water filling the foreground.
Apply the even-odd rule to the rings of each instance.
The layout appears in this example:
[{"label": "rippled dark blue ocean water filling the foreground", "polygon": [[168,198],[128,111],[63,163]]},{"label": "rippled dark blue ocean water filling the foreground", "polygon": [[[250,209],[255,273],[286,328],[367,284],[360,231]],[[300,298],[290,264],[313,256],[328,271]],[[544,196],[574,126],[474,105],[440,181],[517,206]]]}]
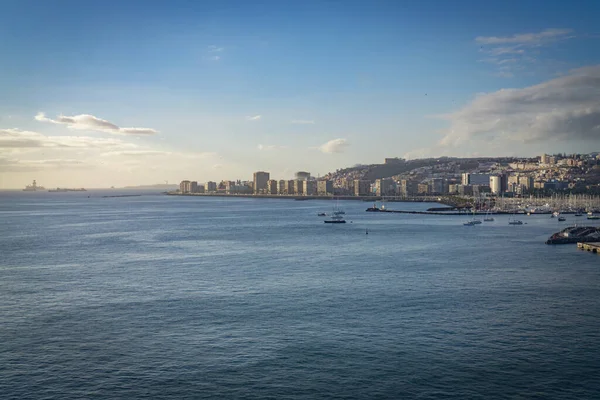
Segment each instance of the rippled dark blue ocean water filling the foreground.
[{"label": "rippled dark blue ocean water filling the foreground", "polygon": [[1,399],[600,398],[573,216],[102,194],[0,193]]}]

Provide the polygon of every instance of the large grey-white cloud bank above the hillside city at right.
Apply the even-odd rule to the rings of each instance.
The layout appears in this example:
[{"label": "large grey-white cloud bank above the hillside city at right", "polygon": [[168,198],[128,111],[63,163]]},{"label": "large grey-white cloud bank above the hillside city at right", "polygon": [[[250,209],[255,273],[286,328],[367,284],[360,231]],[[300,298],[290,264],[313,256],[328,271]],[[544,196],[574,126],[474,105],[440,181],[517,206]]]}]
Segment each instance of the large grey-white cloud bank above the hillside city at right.
[{"label": "large grey-white cloud bank above the hillside city at right", "polygon": [[599,140],[600,65],[523,89],[481,94],[442,118],[450,122],[443,146],[474,140]]}]

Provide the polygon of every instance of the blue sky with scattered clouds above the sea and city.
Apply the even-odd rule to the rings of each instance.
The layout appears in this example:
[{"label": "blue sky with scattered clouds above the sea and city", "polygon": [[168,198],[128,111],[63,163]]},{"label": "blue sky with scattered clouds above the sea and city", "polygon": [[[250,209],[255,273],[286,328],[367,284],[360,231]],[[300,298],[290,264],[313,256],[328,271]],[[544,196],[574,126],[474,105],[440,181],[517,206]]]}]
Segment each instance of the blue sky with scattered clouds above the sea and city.
[{"label": "blue sky with scattered clouds above the sea and city", "polygon": [[0,188],[600,150],[600,2],[0,1]]}]

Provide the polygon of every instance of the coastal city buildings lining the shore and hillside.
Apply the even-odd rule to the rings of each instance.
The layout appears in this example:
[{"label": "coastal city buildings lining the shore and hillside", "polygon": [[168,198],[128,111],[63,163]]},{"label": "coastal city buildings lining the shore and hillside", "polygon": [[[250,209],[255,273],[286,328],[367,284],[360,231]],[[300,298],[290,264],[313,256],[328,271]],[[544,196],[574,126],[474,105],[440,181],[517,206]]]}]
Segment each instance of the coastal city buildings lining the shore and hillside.
[{"label": "coastal city buildings lining the shore and hillside", "polygon": [[[386,158],[383,165],[393,168],[405,162],[403,159]],[[374,180],[364,179],[368,166],[336,171],[319,179],[309,172],[299,171],[294,179],[275,180],[271,179],[269,172],[257,171],[251,181],[199,184],[184,180],[179,185],[179,192],[294,196],[519,196],[535,191],[576,188],[585,183],[581,175],[593,169],[600,169],[598,153],[572,156],[544,154],[537,159],[518,162],[478,162],[471,168],[465,168],[464,164],[453,159],[440,159],[435,165]]]}]

